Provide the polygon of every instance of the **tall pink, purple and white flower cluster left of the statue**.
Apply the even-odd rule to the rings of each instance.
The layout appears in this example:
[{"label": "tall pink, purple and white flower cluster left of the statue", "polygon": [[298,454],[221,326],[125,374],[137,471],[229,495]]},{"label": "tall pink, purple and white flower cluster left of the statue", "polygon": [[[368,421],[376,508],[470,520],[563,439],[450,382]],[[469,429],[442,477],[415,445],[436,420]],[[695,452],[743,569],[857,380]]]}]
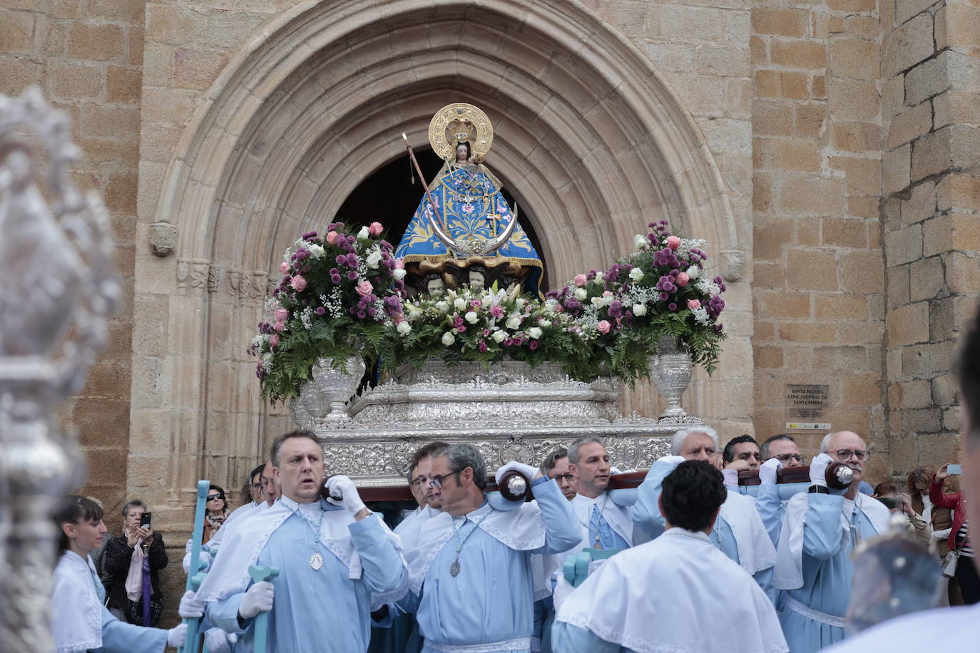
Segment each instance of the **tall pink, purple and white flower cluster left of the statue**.
[{"label": "tall pink, purple and white flower cluster left of the statue", "polygon": [[403,319],[405,266],[381,239],[378,222],[352,232],[343,222],[320,238],[303,234],[279,265],[282,282],[266,300],[250,352],[271,401],[296,396],[313,365],[343,368],[355,354],[376,358],[385,329]]}]

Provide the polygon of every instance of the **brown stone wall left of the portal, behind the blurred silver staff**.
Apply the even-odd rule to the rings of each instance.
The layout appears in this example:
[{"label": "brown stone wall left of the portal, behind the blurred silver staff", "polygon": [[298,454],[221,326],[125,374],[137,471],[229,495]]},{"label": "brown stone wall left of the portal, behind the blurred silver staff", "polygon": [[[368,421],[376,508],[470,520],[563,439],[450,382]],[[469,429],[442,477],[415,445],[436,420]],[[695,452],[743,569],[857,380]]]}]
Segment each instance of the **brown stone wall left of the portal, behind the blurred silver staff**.
[{"label": "brown stone wall left of the portal, behind the blurred silver staff", "polygon": [[73,181],[101,193],[116,232],[123,292],[109,346],[62,410],[88,454],[81,491],[104,502],[114,530],[127,481],[142,62],[142,0],[7,0],[0,8],[0,93],[39,86],[71,117],[81,150]]}]

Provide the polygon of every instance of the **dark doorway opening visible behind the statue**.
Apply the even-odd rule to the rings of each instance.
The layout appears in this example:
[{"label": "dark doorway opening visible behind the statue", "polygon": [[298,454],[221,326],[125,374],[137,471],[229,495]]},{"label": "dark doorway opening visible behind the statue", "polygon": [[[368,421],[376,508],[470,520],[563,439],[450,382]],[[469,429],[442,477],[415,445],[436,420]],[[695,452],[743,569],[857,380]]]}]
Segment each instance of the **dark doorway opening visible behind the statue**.
[{"label": "dark doorway opening visible behind the statue", "polygon": [[[442,160],[431,149],[416,150],[418,166],[422,169],[426,181],[431,181],[442,168]],[[423,182],[416,178],[412,183],[408,154],[375,170],[347,196],[335,219],[347,223],[368,224],[380,222],[388,232],[392,245],[398,246],[405,235],[405,230],[418,208],[418,201],[424,192]],[[417,177],[417,175],[416,175]],[[514,196],[505,187],[502,189],[504,199],[513,207]],[[541,291],[548,290],[548,263],[544,260],[541,241],[534,231],[534,211],[530,207],[520,206],[518,219],[520,226],[527,232],[531,244],[542,257],[544,274],[541,275]]]}]

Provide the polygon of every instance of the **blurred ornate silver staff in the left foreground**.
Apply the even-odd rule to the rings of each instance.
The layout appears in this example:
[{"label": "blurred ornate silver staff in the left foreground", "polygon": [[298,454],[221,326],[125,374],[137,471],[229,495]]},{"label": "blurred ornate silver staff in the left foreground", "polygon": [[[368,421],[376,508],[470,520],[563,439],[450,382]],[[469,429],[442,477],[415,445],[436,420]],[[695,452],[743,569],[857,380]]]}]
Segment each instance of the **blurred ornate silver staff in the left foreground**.
[{"label": "blurred ornate silver staff in the left foreground", "polygon": [[40,91],[0,95],[0,653],[54,650],[51,514],[84,468],[53,414],[81,390],[119,296],[106,210],[68,178],[76,155]]}]

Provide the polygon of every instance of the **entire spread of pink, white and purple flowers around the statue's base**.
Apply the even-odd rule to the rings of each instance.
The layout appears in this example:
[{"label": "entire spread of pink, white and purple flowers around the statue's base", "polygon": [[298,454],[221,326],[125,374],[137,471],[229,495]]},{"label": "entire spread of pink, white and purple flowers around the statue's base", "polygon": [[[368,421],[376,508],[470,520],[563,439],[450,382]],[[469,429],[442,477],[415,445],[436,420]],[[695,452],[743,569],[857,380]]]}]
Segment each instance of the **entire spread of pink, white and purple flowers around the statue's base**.
[{"label": "entire spread of pink, white and purple flowers around the statue's base", "polygon": [[250,351],[263,396],[296,396],[320,359],[343,368],[362,355],[387,369],[428,358],[561,364],[571,378],[647,375],[663,338],[714,370],[725,334],[721,277],[705,276],[704,241],[670,233],[666,220],[637,235],[609,270],[578,274],[544,302],[496,285],[407,299],[405,268],[372,222],[304,234],[286,250],[282,282],[267,300]]}]

